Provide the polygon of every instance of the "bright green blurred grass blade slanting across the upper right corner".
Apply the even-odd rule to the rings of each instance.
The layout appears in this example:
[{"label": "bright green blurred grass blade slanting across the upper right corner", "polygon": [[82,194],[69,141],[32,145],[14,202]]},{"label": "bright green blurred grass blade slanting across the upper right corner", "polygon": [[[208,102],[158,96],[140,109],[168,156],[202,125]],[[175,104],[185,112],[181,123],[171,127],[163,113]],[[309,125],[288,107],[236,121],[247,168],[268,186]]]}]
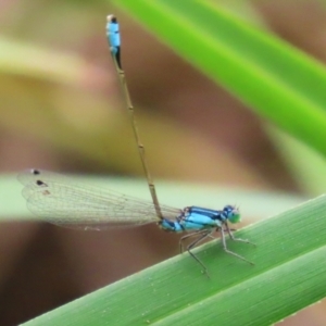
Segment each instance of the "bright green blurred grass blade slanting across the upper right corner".
[{"label": "bright green blurred grass blade slanting across the upper right corner", "polygon": [[262,116],[326,154],[324,65],[211,1],[115,3]]}]

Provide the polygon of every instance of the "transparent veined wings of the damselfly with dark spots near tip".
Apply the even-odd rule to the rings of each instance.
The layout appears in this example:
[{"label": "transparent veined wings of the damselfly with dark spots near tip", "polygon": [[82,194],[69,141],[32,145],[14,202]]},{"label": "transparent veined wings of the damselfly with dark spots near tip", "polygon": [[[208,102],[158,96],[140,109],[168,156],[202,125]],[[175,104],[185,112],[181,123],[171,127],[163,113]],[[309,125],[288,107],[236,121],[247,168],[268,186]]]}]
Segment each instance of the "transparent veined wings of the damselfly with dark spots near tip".
[{"label": "transparent veined wings of the damselfly with dark spots near tip", "polygon": [[[105,229],[159,221],[154,204],[113,190],[86,186],[60,174],[28,170],[18,174],[29,211],[42,220],[71,228]],[[174,220],[180,210],[161,206]]]}]

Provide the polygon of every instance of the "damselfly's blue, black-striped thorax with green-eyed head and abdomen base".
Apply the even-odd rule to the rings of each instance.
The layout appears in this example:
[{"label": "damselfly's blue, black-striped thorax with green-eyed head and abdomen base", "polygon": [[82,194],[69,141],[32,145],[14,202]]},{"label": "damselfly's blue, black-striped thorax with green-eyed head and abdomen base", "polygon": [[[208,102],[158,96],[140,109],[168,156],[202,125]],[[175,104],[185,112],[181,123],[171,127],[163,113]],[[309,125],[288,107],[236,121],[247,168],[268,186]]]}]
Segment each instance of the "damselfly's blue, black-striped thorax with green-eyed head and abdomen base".
[{"label": "damselfly's blue, black-striped thorax with green-eyed head and abdomen base", "polygon": [[166,231],[181,233],[221,228],[227,221],[240,222],[240,213],[236,206],[226,205],[222,211],[189,206],[183,210],[176,221],[163,218],[159,222],[159,226]]}]

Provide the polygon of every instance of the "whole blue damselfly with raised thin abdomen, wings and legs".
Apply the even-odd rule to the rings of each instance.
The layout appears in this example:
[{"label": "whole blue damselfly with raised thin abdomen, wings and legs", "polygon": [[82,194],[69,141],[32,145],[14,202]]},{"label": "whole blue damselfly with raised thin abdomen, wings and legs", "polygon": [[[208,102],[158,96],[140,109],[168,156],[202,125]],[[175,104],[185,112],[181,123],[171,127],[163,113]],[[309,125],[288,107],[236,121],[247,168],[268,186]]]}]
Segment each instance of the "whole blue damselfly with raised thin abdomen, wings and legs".
[{"label": "whole blue damselfly with raised thin abdomen, wings and legs", "polygon": [[228,250],[226,246],[225,233],[235,241],[251,243],[248,240],[235,238],[229,228],[228,222],[238,223],[240,221],[240,213],[236,206],[225,205],[223,210],[187,206],[178,210],[159,203],[155,187],[147,165],[145,149],[139,139],[134,108],[122,68],[118,24],[113,15],[108,16],[106,35],[127,109],[130,113],[131,125],[152,202],[146,202],[112,190],[86,186],[60,174],[30,170],[18,175],[18,180],[25,186],[23,196],[27,200],[28,209],[50,223],[85,230],[101,230],[114,226],[143,225],[156,222],[166,231],[189,231],[180,238],[180,252],[184,251],[184,240],[196,237],[186,248],[190,255],[203,267],[206,275],[206,267],[191,249],[204,239],[212,237],[214,231],[220,231],[225,252],[253,264],[243,256]]}]

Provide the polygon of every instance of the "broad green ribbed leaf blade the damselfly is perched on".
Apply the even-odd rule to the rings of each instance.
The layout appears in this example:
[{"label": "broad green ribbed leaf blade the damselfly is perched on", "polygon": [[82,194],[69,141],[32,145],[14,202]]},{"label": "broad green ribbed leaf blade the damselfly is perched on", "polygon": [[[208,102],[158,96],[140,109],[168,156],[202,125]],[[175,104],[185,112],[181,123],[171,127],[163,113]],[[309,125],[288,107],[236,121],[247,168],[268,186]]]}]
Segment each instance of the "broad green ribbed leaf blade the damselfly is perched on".
[{"label": "broad green ribbed leaf blade the damselfly is perched on", "polygon": [[[251,266],[213,241],[197,250],[211,279],[188,254],[39,316],[37,325],[271,325],[325,297],[326,197],[308,201],[228,241]],[[167,235],[168,237],[168,235]],[[168,240],[168,239],[167,239]]]}]

